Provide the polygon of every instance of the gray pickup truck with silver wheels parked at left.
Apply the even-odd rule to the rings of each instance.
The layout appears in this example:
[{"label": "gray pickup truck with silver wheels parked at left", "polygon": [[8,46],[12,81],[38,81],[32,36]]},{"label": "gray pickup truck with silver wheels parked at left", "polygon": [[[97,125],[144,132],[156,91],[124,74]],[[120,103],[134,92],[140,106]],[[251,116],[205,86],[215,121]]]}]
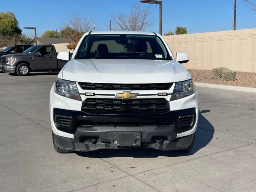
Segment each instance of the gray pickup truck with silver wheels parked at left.
[{"label": "gray pickup truck with silver wheels parked at left", "polygon": [[0,71],[26,76],[30,71],[59,71],[66,62],[57,60],[52,44],[34,45],[19,54],[0,57]]}]

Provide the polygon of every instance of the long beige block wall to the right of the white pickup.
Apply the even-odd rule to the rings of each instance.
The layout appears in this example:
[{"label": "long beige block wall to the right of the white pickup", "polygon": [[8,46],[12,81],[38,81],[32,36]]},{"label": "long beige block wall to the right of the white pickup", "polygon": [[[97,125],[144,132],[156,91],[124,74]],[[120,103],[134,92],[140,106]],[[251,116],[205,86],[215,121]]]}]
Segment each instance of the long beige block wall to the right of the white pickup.
[{"label": "long beige block wall to the right of the white pickup", "polygon": [[211,70],[227,67],[235,71],[256,72],[255,29],[164,36],[174,56],[187,52],[190,69]]}]

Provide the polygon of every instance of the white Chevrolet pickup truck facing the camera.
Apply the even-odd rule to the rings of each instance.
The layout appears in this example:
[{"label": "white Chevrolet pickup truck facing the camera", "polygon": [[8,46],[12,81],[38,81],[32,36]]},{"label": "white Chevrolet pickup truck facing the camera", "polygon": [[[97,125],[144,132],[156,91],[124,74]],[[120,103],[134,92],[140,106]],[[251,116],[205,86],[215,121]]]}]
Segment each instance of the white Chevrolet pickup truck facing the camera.
[{"label": "white Chevrolet pickup truck facing the camera", "polygon": [[189,151],[198,122],[192,77],[154,32],[86,32],[50,91],[59,153],[102,148]]}]

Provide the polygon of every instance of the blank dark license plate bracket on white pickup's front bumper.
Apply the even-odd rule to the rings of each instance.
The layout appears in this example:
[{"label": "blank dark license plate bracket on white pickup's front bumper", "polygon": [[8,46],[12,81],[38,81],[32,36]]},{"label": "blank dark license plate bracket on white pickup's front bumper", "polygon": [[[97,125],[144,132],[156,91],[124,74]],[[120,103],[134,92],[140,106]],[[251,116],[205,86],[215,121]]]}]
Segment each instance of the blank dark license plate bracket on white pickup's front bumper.
[{"label": "blank dark license plate bracket on white pickup's front bumper", "polygon": [[112,133],[112,146],[140,146],[141,133],[114,132]]}]

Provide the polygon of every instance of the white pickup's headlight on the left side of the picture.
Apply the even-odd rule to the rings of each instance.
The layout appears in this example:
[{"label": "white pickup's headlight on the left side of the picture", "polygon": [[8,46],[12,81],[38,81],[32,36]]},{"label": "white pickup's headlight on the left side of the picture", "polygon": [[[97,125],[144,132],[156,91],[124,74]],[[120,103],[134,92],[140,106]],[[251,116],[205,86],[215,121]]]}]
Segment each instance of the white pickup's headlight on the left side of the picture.
[{"label": "white pickup's headlight on the left side of the picture", "polygon": [[56,79],[55,92],[61,96],[81,101],[76,82]]}]

